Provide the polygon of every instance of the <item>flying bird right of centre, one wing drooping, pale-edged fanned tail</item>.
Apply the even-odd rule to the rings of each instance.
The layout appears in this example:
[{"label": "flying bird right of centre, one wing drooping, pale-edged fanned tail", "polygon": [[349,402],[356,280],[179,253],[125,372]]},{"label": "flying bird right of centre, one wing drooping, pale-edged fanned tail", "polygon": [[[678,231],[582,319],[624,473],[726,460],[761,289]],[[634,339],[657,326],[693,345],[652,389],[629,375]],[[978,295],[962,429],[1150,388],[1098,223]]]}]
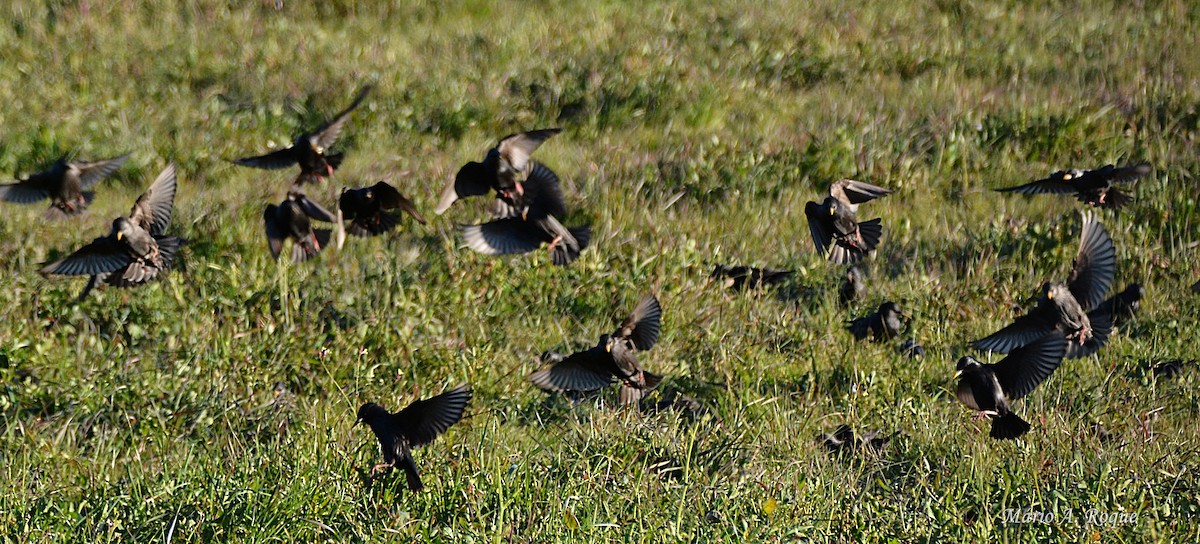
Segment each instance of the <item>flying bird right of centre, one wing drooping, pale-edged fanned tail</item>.
[{"label": "flying bird right of centre, one wing drooping, pale-edged fanned tail", "polygon": [[858,222],[858,204],[890,195],[877,185],[844,179],[829,186],[829,196],[817,204],[804,205],[809,232],[817,252],[828,252],[834,264],[853,264],[875,250],[883,235],[878,219]]}]

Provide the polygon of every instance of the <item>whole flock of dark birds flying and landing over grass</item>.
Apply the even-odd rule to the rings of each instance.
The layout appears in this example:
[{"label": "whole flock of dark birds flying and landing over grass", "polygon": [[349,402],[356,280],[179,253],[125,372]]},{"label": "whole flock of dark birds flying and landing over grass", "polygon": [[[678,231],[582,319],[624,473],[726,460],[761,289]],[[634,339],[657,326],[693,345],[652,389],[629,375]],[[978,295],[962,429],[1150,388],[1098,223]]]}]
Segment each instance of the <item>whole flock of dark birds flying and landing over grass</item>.
[{"label": "whole flock of dark birds flying and landing over grass", "polygon": [[[275,258],[283,252],[288,240],[292,261],[304,262],[330,244],[341,247],[346,233],[355,237],[386,233],[401,221],[395,210],[406,211],[421,225],[426,222],[413,203],[385,181],[343,189],[334,213],[305,192],[307,185],[324,181],[342,163],[343,154],[332,153],[330,148],[370,90],[370,86],[362,89],[348,108],[316,131],[299,136],[290,147],[233,161],[266,169],[300,167],[287,197],[278,204],[268,204],[263,214],[268,247]],[[491,221],[460,227],[468,247],[485,255],[514,255],[545,245],[554,264],[570,264],[588,246],[590,229],[586,225],[566,227],[560,222],[568,210],[558,175],[532,159],[542,143],[559,132],[559,128],[545,128],[500,139],[481,162],[468,162],[457,172],[436,213],[445,213],[461,198],[494,193]],[[96,162],[60,160],[44,172],[0,185],[0,199],[14,203],[49,199],[49,216],[74,216],[91,202],[91,189],[120,168],[127,157]],[[1111,209],[1132,201],[1117,184],[1150,172],[1148,165],[1062,171],[1000,191],[1070,193],[1091,207]],[[175,166],[168,165],[133,203],[128,215],[113,220],[108,234],[46,264],[41,273],[89,276],[79,300],[101,285],[133,287],[162,276],[172,268],[184,244],[179,237],[167,234],[175,189]],[[822,202],[809,202],[804,208],[816,250],[830,263],[846,267],[845,282],[839,289],[842,303],[860,298],[865,292],[863,274],[856,264],[878,246],[883,235],[880,219],[859,221],[858,208],[890,192],[877,185],[844,179],[830,185]],[[336,234],[314,228],[313,222],[332,223]],[[976,412],[977,418],[991,420],[990,436],[1018,438],[1028,432],[1030,424],[1013,411],[1013,401],[1045,382],[1064,359],[1099,351],[1115,327],[1136,311],[1144,295],[1140,285],[1130,285],[1106,298],[1112,288],[1116,261],[1112,239],[1104,226],[1094,214],[1085,213],[1079,251],[1067,279],[1044,283],[1037,304],[1027,313],[972,345],[1007,357],[995,364],[980,363],[971,355],[959,359],[956,396]],[[732,265],[718,265],[712,274],[734,289],[762,288],[790,275],[791,270]],[[1200,291],[1200,283],[1194,289]],[[658,298],[646,294],[616,330],[600,335],[595,346],[571,354],[542,353],[546,367],[532,373],[529,381],[548,393],[572,399],[618,383],[619,403],[637,405],[646,391],[662,381],[662,376],[643,370],[638,363],[638,353],[653,348],[658,341],[661,316]],[[901,334],[906,319],[899,305],[886,301],[875,313],[852,319],[846,328],[856,339],[886,341]],[[913,357],[924,353],[912,339],[901,351]],[[456,424],[470,399],[472,389],[462,385],[418,400],[396,413],[373,402],[362,405],[358,422],[372,429],[383,450],[384,464],[376,470],[400,467],[407,476],[408,486],[421,489],[410,449],[430,443]],[[856,438],[853,431],[844,426],[826,435],[824,440],[830,448],[838,449],[859,442],[877,444],[883,438],[876,435]]]}]

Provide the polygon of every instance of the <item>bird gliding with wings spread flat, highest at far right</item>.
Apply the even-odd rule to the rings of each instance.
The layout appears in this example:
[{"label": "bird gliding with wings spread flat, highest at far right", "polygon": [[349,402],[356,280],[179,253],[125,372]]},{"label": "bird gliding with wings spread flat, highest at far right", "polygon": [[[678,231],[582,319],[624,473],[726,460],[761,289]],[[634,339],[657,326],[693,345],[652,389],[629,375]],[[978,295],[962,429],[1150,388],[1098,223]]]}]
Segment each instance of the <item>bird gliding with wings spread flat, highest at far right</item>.
[{"label": "bird gliding with wings spread flat, highest at far right", "polygon": [[1021,195],[1070,195],[1080,202],[1099,208],[1121,208],[1133,202],[1133,197],[1121,192],[1112,184],[1130,183],[1150,174],[1150,165],[1115,167],[1105,165],[1094,171],[1058,171],[1050,177],[1015,187],[997,189],[1000,192]]}]

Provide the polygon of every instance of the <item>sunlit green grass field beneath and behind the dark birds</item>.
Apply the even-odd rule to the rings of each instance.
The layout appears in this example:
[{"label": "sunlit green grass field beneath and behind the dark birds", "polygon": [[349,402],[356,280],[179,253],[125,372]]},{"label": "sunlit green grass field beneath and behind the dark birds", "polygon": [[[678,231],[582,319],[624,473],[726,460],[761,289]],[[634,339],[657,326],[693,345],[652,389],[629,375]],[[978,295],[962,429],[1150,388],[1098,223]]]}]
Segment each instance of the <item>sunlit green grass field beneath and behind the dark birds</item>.
[{"label": "sunlit green grass field beneath and behind the dark birds", "polygon": [[[82,219],[0,207],[5,540],[1200,540],[1200,369],[1147,370],[1200,353],[1196,5],[282,4],[0,7],[0,177],[132,153]],[[497,138],[562,126],[539,159],[593,247],[570,268],[473,253],[455,223],[485,204],[468,202],[274,262],[262,213],[293,174],[227,160],[365,83],[318,199],[385,179],[432,217]],[[176,270],[74,306],[83,280],[40,263],[107,232],[168,161]],[[990,189],[1140,161],[1138,201],[1102,217],[1142,312],[1016,403],[1024,440],[989,438],[954,400],[954,363],[1068,274],[1080,225],[1074,199]],[[886,232],[851,309],[803,214],[847,177],[895,190],[860,213]],[[797,274],[730,293],[707,279],[726,262]],[[707,413],[614,410],[614,391],[572,406],[526,382],[647,291],[665,315],[642,363]],[[913,315],[924,359],[842,329],[882,300]],[[416,452],[427,489],[368,484],[358,406],[460,383],[469,416]],[[892,441],[833,456],[816,436],[844,423]]]}]

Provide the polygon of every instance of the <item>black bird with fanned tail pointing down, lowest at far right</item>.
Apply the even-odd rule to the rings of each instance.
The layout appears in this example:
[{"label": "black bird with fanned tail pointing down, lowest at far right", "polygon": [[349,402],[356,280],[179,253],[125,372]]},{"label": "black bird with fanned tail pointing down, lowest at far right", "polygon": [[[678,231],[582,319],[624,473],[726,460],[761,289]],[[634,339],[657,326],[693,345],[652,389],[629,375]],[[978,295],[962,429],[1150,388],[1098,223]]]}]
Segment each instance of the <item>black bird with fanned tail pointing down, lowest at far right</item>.
[{"label": "black bird with fanned tail pointing down, lowest at far right", "polygon": [[1019,438],[1030,424],[1012,411],[1010,402],[1033,391],[1062,364],[1067,340],[1046,334],[1013,349],[996,364],[983,364],[966,355],[959,359],[955,394],[959,402],[974,410],[976,418],[991,418],[991,437]]}]

